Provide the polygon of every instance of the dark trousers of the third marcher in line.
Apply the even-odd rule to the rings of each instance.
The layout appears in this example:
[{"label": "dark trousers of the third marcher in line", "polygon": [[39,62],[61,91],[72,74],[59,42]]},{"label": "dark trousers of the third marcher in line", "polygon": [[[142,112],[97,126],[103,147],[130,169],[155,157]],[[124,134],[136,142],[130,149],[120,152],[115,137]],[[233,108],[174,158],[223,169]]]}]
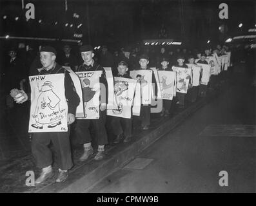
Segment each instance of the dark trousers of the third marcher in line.
[{"label": "dark trousers of the third marcher in line", "polygon": [[121,135],[122,133],[124,133],[125,137],[132,136],[132,119],[131,118],[112,117],[111,124],[112,124],[113,133],[115,135]]}]

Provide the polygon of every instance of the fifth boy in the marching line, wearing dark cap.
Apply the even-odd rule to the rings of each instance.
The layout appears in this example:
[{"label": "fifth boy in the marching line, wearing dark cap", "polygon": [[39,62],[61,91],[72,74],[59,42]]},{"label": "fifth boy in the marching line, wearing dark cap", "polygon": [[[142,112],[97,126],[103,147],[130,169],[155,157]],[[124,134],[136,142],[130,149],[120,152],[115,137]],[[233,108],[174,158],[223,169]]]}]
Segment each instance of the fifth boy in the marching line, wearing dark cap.
[{"label": "fifth boy in the marching line, wearing dark cap", "polygon": [[[159,68],[159,71],[172,71],[172,68],[169,66],[168,57],[162,57],[161,65],[162,67]],[[161,116],[168,117],[170,115],[171,106],[172,106],[172,100],[163,99]]]}]

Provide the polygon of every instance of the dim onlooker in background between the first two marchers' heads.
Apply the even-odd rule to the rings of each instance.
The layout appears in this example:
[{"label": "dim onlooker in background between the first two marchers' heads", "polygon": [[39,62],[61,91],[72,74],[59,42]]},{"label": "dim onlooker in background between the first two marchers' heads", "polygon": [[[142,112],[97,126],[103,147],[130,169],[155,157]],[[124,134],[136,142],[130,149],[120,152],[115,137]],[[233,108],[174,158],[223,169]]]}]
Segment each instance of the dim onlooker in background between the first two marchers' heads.
[{"label": "dim onlooker in background between the first two marchers' heads", "polygon": [[62,66],[69,66],[73,71],[76,71],[78,68],[78,60],[71,52],[71,47],[66,44],[63,46],[63,54],[57,59],[57,62]]}]

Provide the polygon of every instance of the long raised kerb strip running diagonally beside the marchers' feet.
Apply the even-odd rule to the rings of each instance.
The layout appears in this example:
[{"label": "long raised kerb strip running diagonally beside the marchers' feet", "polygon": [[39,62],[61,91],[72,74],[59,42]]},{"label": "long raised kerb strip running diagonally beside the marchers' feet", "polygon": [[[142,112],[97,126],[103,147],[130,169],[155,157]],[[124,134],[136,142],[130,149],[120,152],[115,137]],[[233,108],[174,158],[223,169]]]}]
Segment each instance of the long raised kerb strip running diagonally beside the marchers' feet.
[{"label": "long raised kerb strip running diagonally beside the marchers' feet", "polygon": [[122,167],[127,162],[135,158],[137,154],[141,153],[141,151],[159,140],[159,138],[166,133],[169,133],[174,127],[181,124],[186,117],[192,115],[192,113],[202,108],[202,106],[208,104],[209,100],[216,96],[216,93],[212,93],[208,97],[195,102],[189,108],[186,108],[170,120],[163,121],[162,124],[158,125],[155,129],[150,131],[150,133],[144,135],[143,132],[142,135],[138,135],[139,138],[130,145],[120,145],[121,147],[113,149],[113,151],[110,151],[110,155],[106,159],[97,162],[92,161],[81,165],[81,167],[70,173],[66,182],[52,183],[35,192],[74,193],[89,191],[97,182],[111,174],[118,167]]}]

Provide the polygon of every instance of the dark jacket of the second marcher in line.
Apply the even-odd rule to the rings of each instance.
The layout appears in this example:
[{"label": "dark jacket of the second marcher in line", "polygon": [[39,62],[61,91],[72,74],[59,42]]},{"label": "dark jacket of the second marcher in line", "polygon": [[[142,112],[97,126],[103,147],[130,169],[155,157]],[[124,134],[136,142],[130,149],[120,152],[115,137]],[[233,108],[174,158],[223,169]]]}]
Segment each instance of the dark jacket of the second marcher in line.
[{"label": "dark jacket of the second marcher in line", "polygon": [[[87,66],[86,64],[81,64],[77,68],[77,72],[79,71],[103,71],[103,74],[99,78],[99,82],[104,84],[105,89],[102,88],[101,84],[101,91],[100,91],[100,98],[101,98],[101,104],[108,103],[108,82],[106,81],[106,73],[105,70],[101,65],[99,65],[97,62],[94,61],[93,66],[89,65]],[[106,93],[104,92],[106,91]]]}]

